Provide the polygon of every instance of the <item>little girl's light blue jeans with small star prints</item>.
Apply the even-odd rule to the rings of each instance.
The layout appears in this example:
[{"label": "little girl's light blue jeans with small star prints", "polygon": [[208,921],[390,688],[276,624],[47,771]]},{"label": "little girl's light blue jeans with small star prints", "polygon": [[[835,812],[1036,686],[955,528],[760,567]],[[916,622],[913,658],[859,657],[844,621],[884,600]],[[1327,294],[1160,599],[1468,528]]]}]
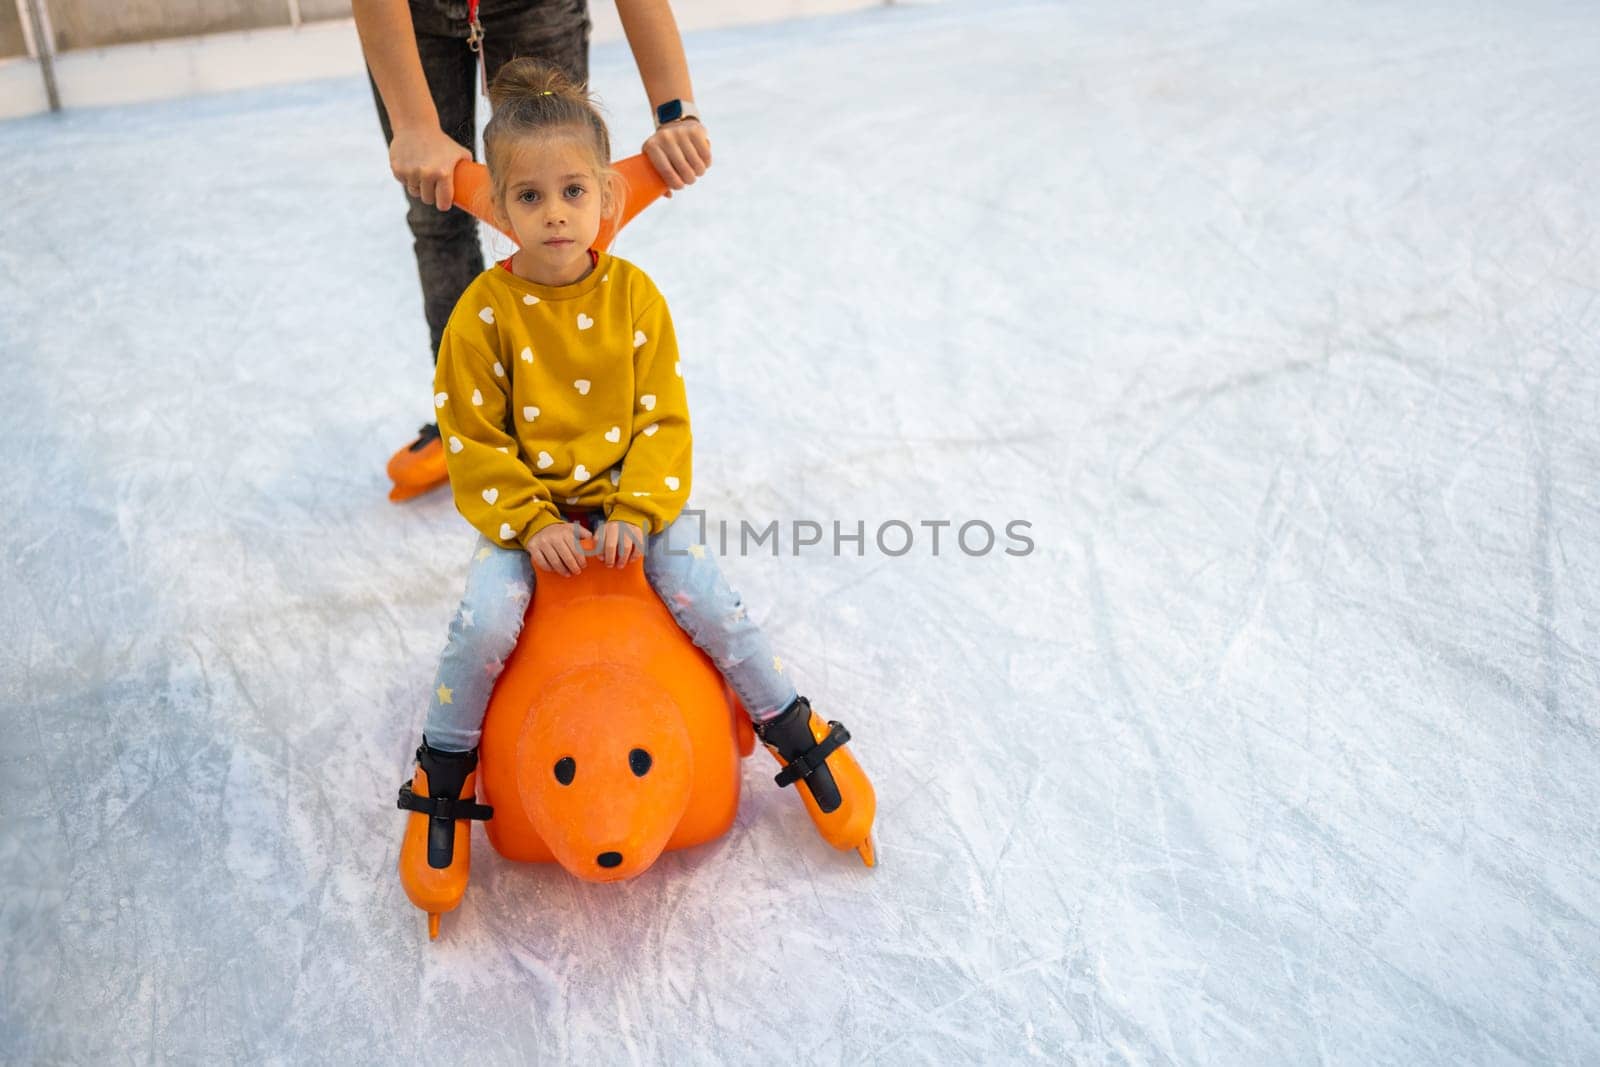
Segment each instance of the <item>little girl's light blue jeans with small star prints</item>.
[{"label": "little girl's light blue jeans with small star prints", "polygon": [[[586,525],[598,523],[597,515]],[[701,533],[699,518],[683,515],[659,534],[648,536],[645,577],[683,632],[717,664],[750,718],[763,721],[794,704],[795,686],[773,656],[766,635],[746,614],[739,593],[723,581],[717,557]],[[605,566],[598,557],[590,557],[587,565]],[[438,657],[429,697],[422,736],[430,747],[450,752],[477,747],[490,693],[517,646],[533,584],[533,560],[526,550],[502,549],[478,537],[467,569],[467,592],[450,622],[450,640]]]}]

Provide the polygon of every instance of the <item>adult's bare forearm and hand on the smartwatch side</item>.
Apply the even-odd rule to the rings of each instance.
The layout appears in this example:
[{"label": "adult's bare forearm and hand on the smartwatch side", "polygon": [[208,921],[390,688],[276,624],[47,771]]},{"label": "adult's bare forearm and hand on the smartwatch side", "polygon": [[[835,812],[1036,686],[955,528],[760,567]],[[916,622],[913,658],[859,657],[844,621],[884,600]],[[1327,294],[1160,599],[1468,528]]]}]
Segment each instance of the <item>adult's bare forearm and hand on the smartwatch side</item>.
[{"label": "adult's bare forearm and hand on the smartwatch side", "polygon": [[[616,13],[622,19],[627,46],[634,51],[638,78],[645,83],[651,114],[667,101],[694,99],[683,38],[667,0],[616,0]],[[710,136],[693,118],[661,126],[645,139],[642,150],[667,189],[693,186],[710,166]]]}]

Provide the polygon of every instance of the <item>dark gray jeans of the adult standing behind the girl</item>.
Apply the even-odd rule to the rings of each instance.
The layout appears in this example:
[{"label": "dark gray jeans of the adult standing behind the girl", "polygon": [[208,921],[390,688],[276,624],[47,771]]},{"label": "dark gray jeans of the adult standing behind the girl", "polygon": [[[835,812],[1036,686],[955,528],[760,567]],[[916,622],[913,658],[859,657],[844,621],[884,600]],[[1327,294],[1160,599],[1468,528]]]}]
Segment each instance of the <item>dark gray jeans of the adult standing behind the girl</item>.
[{"label": "dark gray jeans of the adult standing behind the girl", "polygon": [[[482,0],[483,59],[490,80],[517,56],[533,56],[563,69],[579,83],[589,80],[587,0]],[[478,58],[467,48],[467,0],[411,0],[411,24],[422,58],[422,75],[446,134],[472,149],[478,99]],[[371,75],[368,74],[368,82]],[[373,85],[384,142],[394,141],[389,112]],[[485,101],[486,104],[486,101]],[[403,190],[402,190],[403,192]],[[406,195],[406,224],[416,248],[416,272],[422,280],[422,314],[438,360],[438,339],[450,312],[472,278],[483,272],[477,221],[461,208],[440,211]]]}]

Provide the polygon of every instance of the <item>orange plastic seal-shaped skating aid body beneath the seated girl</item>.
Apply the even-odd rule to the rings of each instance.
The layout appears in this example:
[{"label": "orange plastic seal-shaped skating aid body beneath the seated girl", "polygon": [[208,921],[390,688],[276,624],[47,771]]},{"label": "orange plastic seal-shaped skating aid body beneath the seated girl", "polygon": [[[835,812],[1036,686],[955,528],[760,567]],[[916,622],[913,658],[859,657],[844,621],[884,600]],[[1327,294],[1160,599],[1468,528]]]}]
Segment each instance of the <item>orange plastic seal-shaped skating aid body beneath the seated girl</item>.
[{"label": "orange plastic seal-shaped skating aid body beneath the seated girl", "polygon": [[754,747],[744,709],[638,558],[541,573],[483,720],[485,829],[507,859],[632,878],[726,833]]}]

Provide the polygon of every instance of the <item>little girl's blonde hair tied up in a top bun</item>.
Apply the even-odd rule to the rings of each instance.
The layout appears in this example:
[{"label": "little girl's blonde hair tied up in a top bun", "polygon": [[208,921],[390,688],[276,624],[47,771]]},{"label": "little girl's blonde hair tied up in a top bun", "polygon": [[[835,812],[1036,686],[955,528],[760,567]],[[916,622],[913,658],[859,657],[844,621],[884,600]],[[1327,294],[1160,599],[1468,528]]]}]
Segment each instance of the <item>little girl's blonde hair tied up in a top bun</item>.
[{"label": "little girl's blonde hair tied up in a top bun", "polygon": [[611,170],[611,134],[589,86],[539,59],[512,59],[490,85],[490,122],[483,128],[483,157],[498,211],[504,213],[506,171],[522,146],[530,138],[570,134],[594,155],[602,214],[614,219],[622,213],[622,198],[618,195],[621,176]]}]

